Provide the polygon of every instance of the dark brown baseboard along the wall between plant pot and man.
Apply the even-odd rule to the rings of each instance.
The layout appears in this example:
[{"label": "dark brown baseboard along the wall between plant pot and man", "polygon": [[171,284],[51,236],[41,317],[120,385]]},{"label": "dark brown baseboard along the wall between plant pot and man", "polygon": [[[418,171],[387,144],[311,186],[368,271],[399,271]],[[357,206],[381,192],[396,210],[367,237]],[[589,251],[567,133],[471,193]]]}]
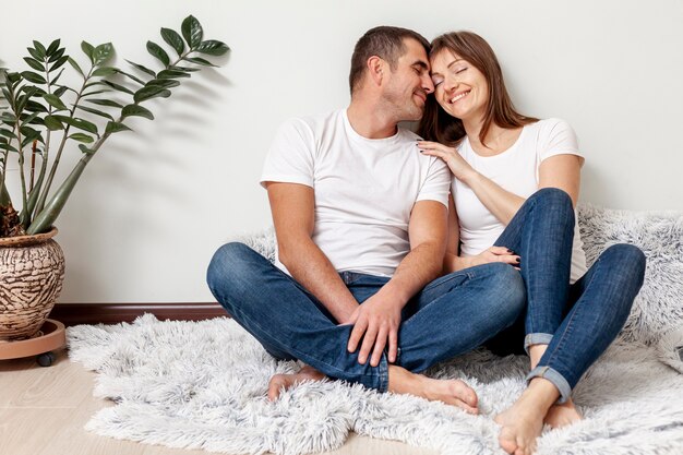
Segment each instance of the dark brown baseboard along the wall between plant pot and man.
[{"label": "dark brown baseboard along the wall between plant pot and man", "polygon": [[144,313],[160,321],[203,321],[228,315],[218,303],[57,303],[49,318],[64,325],[118,324],[132,322]]}]

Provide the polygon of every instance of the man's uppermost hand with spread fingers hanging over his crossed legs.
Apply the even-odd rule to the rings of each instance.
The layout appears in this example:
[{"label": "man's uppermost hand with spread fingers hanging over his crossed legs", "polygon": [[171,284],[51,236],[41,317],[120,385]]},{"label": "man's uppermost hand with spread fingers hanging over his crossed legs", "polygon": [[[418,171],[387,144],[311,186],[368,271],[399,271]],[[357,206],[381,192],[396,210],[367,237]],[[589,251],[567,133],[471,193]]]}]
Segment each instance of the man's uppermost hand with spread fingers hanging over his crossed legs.
[{"label": "man's uppermost hand with spread fingers hanging over his crossed legs", "polygon": [[347,349],[349,352],[355,352],[360,339],[363,338],[363,344],[358,355],[359,363],[364,364],[372,351],[370,364],[372,367],[380,364],[387,338],[388,361],[396,361],[400,309],[402,307],[396,302],[383,299],[380,294],[375,294],[354,311],[348,321],[348,323],[354,324],[354,330],[351,331]]}]

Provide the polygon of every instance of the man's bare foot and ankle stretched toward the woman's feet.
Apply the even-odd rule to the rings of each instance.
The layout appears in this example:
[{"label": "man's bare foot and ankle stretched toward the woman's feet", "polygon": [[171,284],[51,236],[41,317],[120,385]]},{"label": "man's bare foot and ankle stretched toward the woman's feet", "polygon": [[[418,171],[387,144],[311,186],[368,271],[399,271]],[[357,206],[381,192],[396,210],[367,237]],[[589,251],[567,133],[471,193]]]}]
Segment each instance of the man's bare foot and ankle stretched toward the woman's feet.
[{"label": "man's bare foot and ankle stretched toward the woman's feet", "polygon": [[435,380],[422,374],[390,366],[388,390],[397,394],[410,394],[432,402],[457,406],[469,414],[478,414],[477,393],[459,380]]}]

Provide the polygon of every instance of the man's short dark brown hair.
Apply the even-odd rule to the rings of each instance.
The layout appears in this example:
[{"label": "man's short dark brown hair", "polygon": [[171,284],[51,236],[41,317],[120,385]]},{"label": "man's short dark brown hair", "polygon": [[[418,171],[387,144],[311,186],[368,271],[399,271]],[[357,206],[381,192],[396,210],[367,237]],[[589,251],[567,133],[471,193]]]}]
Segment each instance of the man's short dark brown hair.
[{"label": "man's short dark brown hair", "polygon": [[396,69],[398,58],[406,52],[405,38],[415,39],[429,53],[429,41],[419,33],[408,28],[382,25],[370,28],[360,37],[351,56],[351,72],[349,73],[351,94],[354,94],[354,89],[360,83],[366,71],[366,63],[370,57],[378,56],[388,62],[392,71]]}]

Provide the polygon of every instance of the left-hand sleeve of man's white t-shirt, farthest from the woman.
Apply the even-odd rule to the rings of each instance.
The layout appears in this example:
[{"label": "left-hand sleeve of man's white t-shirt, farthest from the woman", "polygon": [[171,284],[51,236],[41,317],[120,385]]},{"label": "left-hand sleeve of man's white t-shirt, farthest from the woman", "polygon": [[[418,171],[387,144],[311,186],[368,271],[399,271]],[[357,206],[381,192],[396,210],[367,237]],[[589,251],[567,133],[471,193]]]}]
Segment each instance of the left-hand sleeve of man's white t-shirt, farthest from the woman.
[{"label": "left-hand sleeve of man's white t-shirt, farthest from the woman", "polygon": [[290,119],[277,131],[263,165],[261,185],[275,181],[313,187],[315,145],[310,127]]}]

